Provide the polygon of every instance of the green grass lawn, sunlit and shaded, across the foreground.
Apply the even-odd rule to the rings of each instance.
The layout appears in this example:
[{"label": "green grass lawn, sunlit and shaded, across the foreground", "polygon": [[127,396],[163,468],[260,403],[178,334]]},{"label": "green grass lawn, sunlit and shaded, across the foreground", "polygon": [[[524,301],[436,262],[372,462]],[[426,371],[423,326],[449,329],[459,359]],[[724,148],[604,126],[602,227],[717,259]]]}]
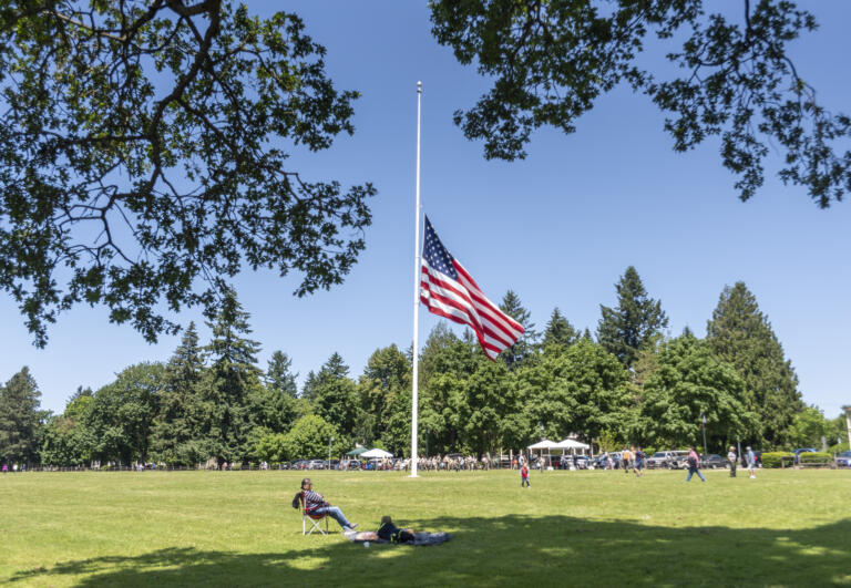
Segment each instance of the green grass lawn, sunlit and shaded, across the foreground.
[{"label": "green grass lawn, sunlit and shaded, across the foreground", "polygon": [[434,547],[301,536],[289,472],[0,475],[11,586],[670,586],[851,584],[851,472],[314,472],[361,529]]}]

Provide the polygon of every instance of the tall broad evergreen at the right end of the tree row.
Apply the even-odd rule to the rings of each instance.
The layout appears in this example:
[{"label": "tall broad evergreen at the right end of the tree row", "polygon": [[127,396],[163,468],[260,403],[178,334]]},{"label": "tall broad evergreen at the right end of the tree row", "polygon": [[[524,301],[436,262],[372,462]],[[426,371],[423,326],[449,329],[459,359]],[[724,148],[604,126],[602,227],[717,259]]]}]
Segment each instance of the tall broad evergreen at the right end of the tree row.
[{"label": "tall broad evergreen at the right end of the tree row", "polygon": [[745,380],[740,400],[759,415],[752,442],[785,444],[794,415],[803,410],[798,376],[745,282],[725,287],[707,323],[706,339],[712,352]]}]

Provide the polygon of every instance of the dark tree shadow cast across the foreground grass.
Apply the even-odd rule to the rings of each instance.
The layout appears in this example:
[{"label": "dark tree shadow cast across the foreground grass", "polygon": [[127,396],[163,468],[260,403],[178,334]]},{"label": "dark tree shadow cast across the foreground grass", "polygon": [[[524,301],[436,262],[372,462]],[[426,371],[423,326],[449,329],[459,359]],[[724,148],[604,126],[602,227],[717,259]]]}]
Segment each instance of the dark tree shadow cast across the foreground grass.
[{"label": "dark tree shadow cast across the foreground grass", "polygon": [[[250,554],[171,547],[20,571],[11,584],[78,586],[827,586],[851,584],[851,518],[808,529],[671,528],[567,516],[439,517],[441,546],[331,537]],[[299,537],[300,539],[300,537]],[[64,580],[60,578],[64,577]]]}]

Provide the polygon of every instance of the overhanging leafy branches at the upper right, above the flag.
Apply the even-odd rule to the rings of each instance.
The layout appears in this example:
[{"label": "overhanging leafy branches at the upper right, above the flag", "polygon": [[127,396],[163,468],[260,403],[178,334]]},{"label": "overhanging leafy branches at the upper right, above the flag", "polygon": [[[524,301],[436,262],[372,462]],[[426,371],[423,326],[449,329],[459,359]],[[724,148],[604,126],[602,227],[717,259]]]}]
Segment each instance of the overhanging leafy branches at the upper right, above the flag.
[{"label": "overhanging leafy branches at the upper right, above the flag", "polygon": [[[488,158],[524,157],[540,126],[575,132],[601,95],[625,83],[668,115],[675,149],[719,136],[742,200],[762,186],[769,145],[782,153],[780,178],[804,186],[822,208],[851,189],[851,151],[842,151],[851,118],[826,110],[790,58],[790,43],[817,28],[794,2],[435,0],[430,7],[437,40],[492,83],[475,106],[454,116],[468,138],[484,141]],[[640,62],[653,37],[668,43],[667,60],[679,75],[666,79]]]}]

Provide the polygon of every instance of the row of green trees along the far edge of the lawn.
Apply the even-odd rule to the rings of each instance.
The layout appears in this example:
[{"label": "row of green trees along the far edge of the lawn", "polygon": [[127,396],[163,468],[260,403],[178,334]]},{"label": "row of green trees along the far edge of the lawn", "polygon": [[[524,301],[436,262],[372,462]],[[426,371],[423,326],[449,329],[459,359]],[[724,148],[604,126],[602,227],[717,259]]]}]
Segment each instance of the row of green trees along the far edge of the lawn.
[{"label": "row of green trees along the far edge of the lawn", "polygon": [[[444,323],[420,351],[420,446],[429,454],[494,453],[575,433],[603,448],[669,447],[706,435],[711,448],[831,443],[841,420],[806,406],[782,347],[756,298],[738,282],[721,292],[699,339],[666,336],[668,318],[635,268],[601,307],[596,337],[556,308],[543,332],[509,291],[502,309],[524,337],[488,360],[466,331]],[[233,293],[209,342],[194,324],[167,363],[140,363],[96,392],[79,389],[60,415],[39,409],[24,368],[0,390],[0,451],[8,461],[53,465],[119,461],[196,464],[340,455],[353,443],[410,451],[411,352],[376,350],[351,378],[334,353],[301,389],[290,358],[257,367],[248,314]]]}]

